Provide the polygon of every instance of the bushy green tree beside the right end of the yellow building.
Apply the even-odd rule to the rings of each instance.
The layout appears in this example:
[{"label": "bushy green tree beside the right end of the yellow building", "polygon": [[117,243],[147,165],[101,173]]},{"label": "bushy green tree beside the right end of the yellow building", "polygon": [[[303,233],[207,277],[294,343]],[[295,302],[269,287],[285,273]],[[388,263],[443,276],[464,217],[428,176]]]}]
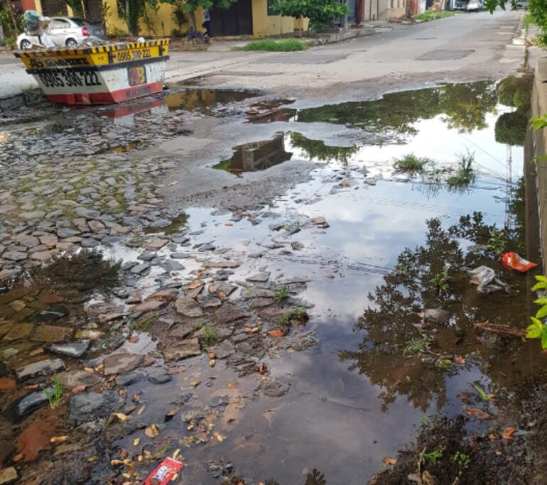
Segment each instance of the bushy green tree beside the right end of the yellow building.
[{"label": "bushy green tree beside the right end of the yellow building", "polygon": [[273,4],[272,9],[285,17],[308,17],[308,31],[329,28],[335,18],[348,13],[347,5],[338,0],[283,0]]}]

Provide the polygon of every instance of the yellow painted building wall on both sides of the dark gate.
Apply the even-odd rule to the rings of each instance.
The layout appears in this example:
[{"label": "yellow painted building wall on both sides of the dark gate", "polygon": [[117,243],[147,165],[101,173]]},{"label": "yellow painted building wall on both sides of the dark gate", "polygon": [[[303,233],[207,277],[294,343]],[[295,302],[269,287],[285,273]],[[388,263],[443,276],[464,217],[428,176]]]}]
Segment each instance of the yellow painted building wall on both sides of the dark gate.
[{"label": "yellow painted building wall on both sides of the dark gate", "polygon": [[[103,3],[109,7],[109,15],[105,19],[105,24],[108,33],[124,32],[127,33],[127,26],[119,15],[116,0],[103,0]],[[277,36],[282,33],[292,33],[295,28],[308,28],[308,20],[300,21],[293,17],[281,17],[280,15],[269,16],[266,0],[252,0],[253,13],[253,34],[255,37]],[[140,21],[141,36],[170,36],[173,29],[178,28],[176,23],[171,18],[172,7],[170,4],[160,4],[158,15],[147,7],[148,17],[153,23],[153,29],[148,31],[146,24]],[[197,28],[200,31],[205,31],[201,27],[202,24],[202,9],[198,9],[195,13]],[[163,29],[161,22],[163,21]],[[190,23],[183,25],[183,32],[190,28]]]}]

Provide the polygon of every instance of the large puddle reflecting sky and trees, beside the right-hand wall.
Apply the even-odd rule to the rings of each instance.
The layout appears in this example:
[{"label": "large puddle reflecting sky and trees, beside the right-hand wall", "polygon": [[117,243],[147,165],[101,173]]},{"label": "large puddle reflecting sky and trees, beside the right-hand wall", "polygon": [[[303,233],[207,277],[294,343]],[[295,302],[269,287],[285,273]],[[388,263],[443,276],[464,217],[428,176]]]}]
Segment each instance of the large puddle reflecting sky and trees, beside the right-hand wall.
[{"label": "large puddle reflecting sky and trees, beside the right-hand wall", "polygon": [[[313,330],[318,343],[261,359],[270,376],[288,386],[280,397],[258,391],[259,374],[238,376],[220,361],[213,369],[205,354],[184,361],[184,371],[173,373],[161,392],[146,381],[128,384],[127,396],[141,393],[146,403],[139,419],[161,423],[161,432],[153,438],[136,429],[114,449],[136,459],[136,439],[156,451],[180,447],[189,484],[219,483],[233,468],[246,483],[314,483],[306,476],[319,469],[326,483],[357,485],[413,440],[424,415],[480,408],[512,423],[521,406],[516,391],[543,368],[546,356],[537,342],[476,325],[522,329],[535,312],[530,288],[538,271],[503,268],[502,252],[516,251],[541,267],[536,219],[525,217],[525,207],[537,204],[535,188],[524,184],[524,133],[505,129],[515,111],[500,102],[499,92],[510,104],[497,85],[477,82],[290,116],[286,107],[256,107],[252,114],[262,121],[342,124],[373,138],[366,145],[332,146],[291,125],[264,141],[235,146],[232,158],[213,168],[245,177],[299,160],[318,167],[310,180],[244,217],[188,209],[148,229],[170,235],[156,256],[168,261],[175,254],[183,266],[168,276],[153,266],[133,288],[146,294],[156,281],[188,281],[210,249],[217,259],[242,263],[228,275],[242,294],[245,278],[258,272],[270,273],[271,281],[304,279],[299,296],[313,305],[305,330]],[[190,104],[176,96],[173,107],[205,102],[194,94],[188,94]],[[262,117],[260,109],[267,111]],[[276,109],[283,109],[279,116]],[[127,263],[138,261],[142,249],[119,242],[102,252]],[[482,265],[494,268],[508,290],[477,293],[467,269]],[[148,344],[145,339],[124,349],[144,352]],[[193,388],[196,378],[206,384]],[[477,388],[496,399],[484,401]],[[219,406],[222,412],[208,429],[200,428],[202,435],[193,420],[165,418],[173,407],[188,415],[204,406],[211,415]],[[480,432],[484,423],[475,419],[468,426]]]}]

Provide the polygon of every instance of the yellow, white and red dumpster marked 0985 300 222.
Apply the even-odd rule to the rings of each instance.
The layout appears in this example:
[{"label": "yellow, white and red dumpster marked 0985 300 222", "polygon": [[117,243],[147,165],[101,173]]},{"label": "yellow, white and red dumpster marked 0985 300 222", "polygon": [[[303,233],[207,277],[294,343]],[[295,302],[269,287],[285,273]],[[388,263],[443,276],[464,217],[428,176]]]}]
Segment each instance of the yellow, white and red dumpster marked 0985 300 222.
[{"label": "yellow, white and red dumpster marked 0985 300 222", "polygon": [[20,50],[28,74],[59,104],[109,104],[162,92],[169,40]]}]

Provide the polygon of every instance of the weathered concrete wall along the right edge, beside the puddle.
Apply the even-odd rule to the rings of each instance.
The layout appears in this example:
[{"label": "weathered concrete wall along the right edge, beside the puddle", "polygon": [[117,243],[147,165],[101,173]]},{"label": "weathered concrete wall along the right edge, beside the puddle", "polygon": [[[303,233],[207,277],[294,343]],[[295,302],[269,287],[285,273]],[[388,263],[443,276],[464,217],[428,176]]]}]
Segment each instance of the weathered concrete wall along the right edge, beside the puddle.
[{"label": "weathered concrete wall along the right edge, beside the puddle", "polygon": [[[547,114],[547,59],[539,59],[537,62],[534,91],[532,93],[532,116],[542,116],[543,114]],[[529,151],[528,158],[530,160],[533,156],[547,155],[547,129],[531,131],[531,141],[527,150]],[[547,274],[547,161],[540,161],[535,164],[535,167],[543,274]]]}]

